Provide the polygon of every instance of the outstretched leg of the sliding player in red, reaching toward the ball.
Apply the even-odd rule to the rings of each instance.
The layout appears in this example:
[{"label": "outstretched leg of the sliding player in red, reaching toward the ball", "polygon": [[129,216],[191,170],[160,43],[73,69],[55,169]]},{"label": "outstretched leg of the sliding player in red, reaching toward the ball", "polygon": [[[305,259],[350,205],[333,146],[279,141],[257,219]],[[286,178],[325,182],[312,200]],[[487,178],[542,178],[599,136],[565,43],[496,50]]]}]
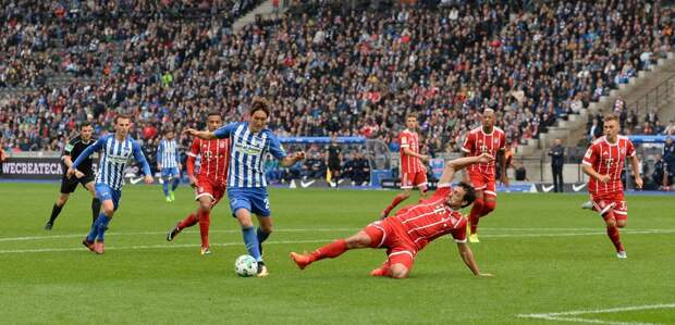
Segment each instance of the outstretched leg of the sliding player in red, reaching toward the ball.
[{"label": "outstretched leg of the sliding player in red, reaching toward the ball", "polygon": [[[371,247],[376,240],[372,240],[371,235],[367,232],[370,233],[373,230],[368,230],[368,228],[366,228],[346,239],[336,239],[335,241],[331,243],[324,245],[316,249],[314,252],[309,254],[298,254],[296,252],[291,252],[291,259],[293,259],[293,261],[295,261],[295,264],[297,264],[297,266],[300,270],[303,270],[307,267],[307,265],[316,261],[320,261],[327,258],[329,259],[338,258],[342,255],[342,253],[346,252],[347,250]],[[372,235],[376,237],[377,236],[382,237],[383,233],[379,233],[379,235],[378,234],[372,234]],[[377,241],[378,243],[380,242],[380,240],[377,240]]]}]

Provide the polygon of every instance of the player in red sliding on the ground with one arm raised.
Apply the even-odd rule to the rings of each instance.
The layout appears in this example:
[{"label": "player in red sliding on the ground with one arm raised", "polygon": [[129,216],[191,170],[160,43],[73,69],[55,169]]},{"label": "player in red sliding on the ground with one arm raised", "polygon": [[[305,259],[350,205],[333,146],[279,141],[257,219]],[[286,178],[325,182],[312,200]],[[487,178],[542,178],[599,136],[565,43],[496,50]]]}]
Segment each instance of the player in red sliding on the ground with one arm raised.
[{"label": "player in red sliding on the ground with one arm raised", "polygon": [[320,247],[312,253],[291,252],[291,259],[304,270],[316,261],[338,258],[351,249],[386,248],[386,261],[370,275],[405,278],[410,273],[417,253],[432,240],[450,234],[457,243],[459,257],[474,275],[492,276],[478,268],[474,253],[466,243],[467,220],[458,211],[471,204],[475,199],[474,188],[464,182],[451,187],[455,171],[491,160],[492,157],[483,153],[451,161],[441,175],[439,188],[430,198],[402,209],[394,216],[371,223],[349,238]]}]

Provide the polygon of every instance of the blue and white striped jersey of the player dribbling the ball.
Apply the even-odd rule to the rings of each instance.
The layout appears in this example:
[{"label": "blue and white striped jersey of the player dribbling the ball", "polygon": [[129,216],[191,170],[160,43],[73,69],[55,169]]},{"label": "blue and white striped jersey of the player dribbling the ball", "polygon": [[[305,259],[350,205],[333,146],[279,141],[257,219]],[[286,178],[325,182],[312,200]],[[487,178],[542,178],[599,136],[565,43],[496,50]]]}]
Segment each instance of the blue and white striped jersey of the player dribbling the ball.
[{"label": "blue and white striped jersey of the player dribbling the ball", "polygon": [[265,159],[271,153],[275,159],[286,157],[279,138],[268,128],[254,134],[248,122],[230,123],[214,132],[217,138],[230,138],[230,167],[228,188],[267,187]]}]

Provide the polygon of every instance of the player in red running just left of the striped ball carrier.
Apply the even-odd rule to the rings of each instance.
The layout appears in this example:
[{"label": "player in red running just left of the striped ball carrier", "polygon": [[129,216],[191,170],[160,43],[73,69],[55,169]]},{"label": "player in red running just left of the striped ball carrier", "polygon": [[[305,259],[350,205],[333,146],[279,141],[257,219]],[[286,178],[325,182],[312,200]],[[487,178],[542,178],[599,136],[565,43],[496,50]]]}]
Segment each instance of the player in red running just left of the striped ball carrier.
[{"label": "player in red running just left of the striped ball carrier", "polygon": [[[207,128],[214,132],[223,124],[220,113],[212,112],[207,116]],[[167,240],[172,241],[183,229],[199,223],[201,235],[201,254],[210,254],[209,224],[211,209],[225,195],[228,187],[228,165],[230,157],[230,139],[202,140],[195,138],[187,153],[187,175],[189,185],[195,188],[199,202],[197,211],[180,221],[167,234]],[[195,175],[195,160],[200,159],[199,172]]]}]

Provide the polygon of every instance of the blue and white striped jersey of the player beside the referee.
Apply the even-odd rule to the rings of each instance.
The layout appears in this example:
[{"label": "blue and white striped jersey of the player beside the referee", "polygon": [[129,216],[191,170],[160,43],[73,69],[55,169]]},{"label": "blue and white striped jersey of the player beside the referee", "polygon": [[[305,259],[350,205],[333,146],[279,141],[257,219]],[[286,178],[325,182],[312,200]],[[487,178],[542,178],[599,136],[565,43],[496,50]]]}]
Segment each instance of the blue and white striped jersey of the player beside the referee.
[{"label": "blue and white striped jersey of the player beside the referee", "polygon": [[73,162],[73,168],[77,168],[87,157],[96,151],[101,152],[99,167],[96,173],[96,184],[102,183],[112,189],[122,189],[124,185],[124,168],[132,155],[143,167],[143,173],[150,175],[150,166],[140,150],[140,146],[128,136],[123,141],[120,141],[115,139],[114,134],[101,137],[96,143],[89,146]]}]

